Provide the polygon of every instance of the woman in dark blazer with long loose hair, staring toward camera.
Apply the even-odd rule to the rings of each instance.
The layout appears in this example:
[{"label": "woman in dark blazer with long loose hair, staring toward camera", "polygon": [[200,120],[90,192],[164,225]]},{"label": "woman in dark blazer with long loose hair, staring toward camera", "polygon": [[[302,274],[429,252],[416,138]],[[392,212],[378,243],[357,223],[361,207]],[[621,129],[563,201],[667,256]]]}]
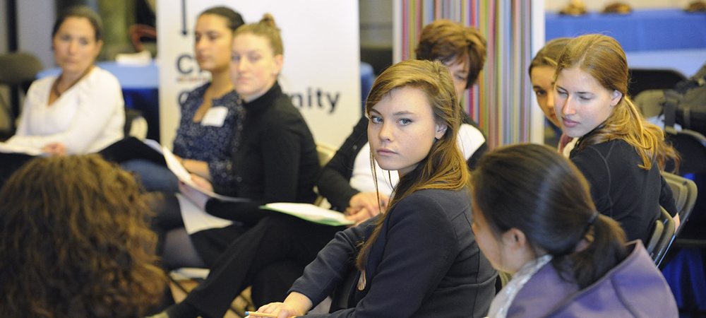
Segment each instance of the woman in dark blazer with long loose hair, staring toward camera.
[{"label": "woman in dark blazer with long loose hair, staring toward camera", "polygon": [[258,311],[306,314],[342,283],[354,258],[347,308],[307,317],[484,317],[496,271],[470,228],[460,111],[441,62],[402,61],[384,71],[366,113],[373,163],[400,176],[392,199],[384,213],[338,232],[284,302]]}]

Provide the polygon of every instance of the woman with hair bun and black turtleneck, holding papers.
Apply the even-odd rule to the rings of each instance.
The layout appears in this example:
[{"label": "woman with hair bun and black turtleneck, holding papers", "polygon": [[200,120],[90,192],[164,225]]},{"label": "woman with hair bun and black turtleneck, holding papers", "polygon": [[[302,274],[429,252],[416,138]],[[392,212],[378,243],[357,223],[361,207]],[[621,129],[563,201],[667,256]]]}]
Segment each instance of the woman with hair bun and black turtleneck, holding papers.
[{"label": "woman with hair bun and black turtleneck, holding papers", "polygon": [[[186,186],[181,187],[179,201],[167,196],[155,221],[157,230],[169,232],[164,248],[167,267],[213,266],[239,235],[275,213],[261,210],[263,204],[316,199],[313,186],[321,171],[316,144],[301,113],[277,83],[282,52],[279,30],[269,14],[235,31],[231,78],[244,100],[246,116],[230,145],[234,184],[212,185],[191,176],[204,189],[244,201],[210,199]],[[185,244],[170,247],[172,237]],[[197,264],[185,262],[188,255]]]}]

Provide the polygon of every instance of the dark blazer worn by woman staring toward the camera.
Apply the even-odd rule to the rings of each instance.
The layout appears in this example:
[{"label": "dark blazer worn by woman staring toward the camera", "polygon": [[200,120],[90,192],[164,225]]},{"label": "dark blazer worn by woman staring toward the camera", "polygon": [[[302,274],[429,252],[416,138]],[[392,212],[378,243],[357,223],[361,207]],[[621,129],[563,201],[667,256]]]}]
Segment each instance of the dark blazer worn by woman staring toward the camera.
[{"label": "dark blazer worn by woman staring toward the camera", "polygon": [[[347,276],[378,217],[338,232],[289,291],[321,302]],[[467,189],[410,194],[388,211],[366,265],[366,284],[362,290],[352,286],[349,308],[307,317],[484,317],[497,272],[481,254],[471,223]]]}]

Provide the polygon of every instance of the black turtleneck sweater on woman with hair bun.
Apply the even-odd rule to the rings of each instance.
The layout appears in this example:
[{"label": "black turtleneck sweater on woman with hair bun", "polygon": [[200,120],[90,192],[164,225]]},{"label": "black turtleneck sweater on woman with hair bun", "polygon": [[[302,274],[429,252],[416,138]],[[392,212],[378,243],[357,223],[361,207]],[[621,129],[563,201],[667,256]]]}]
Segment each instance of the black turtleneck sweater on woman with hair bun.
[{"label": "black turtleneck sweater on woman with hair bun", "polygon": [[243,130],[232,145],[236,182],[216,192],[251,201],[210,199],[206,211],[252,225],[266,214],[259,208],[263,204],[313,202],[321,165],[309,126],[278,83],[243,106]]}]

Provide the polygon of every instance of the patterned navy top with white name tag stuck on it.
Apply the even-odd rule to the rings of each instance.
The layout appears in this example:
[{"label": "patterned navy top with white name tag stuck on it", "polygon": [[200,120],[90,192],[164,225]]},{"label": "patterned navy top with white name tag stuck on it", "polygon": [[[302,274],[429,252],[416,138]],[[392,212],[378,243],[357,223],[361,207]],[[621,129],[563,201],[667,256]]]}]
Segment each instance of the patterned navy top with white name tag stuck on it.
[{"label": "patterned navy top with white name tag stuck on it", "polygon": [[238,108],[241,100],[235,90],[221,98],[213,99],[211,109],[225,107],[227,114],[222,126],[203,125],[193,122],[198,107],[203,104],[203,94],[210,83],[192,90],[181,105],[181,122],[174,139],[174,154],[184,159],[200,160],[208,163],[208,172],[213,184],[231,184],[234,179],[230,143],[233,139]]}]

